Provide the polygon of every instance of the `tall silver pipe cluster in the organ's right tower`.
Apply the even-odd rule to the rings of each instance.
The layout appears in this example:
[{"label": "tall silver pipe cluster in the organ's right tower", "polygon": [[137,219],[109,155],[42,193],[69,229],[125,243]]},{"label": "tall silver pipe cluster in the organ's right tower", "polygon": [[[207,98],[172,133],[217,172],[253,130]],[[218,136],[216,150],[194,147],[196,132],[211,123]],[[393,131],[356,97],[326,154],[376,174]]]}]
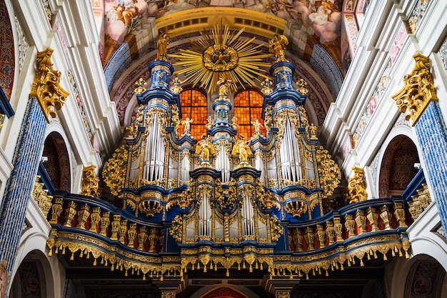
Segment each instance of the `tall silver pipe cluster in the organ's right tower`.
[{"label": "tall silver pipe cluster in the organ's right tower", "polygon": [[295,132],[292,129],[289,119],[286,121],[286,127],[284,128],[279,152],[282,177],[293,182],[303,179],[298,140],[296,139]]}]

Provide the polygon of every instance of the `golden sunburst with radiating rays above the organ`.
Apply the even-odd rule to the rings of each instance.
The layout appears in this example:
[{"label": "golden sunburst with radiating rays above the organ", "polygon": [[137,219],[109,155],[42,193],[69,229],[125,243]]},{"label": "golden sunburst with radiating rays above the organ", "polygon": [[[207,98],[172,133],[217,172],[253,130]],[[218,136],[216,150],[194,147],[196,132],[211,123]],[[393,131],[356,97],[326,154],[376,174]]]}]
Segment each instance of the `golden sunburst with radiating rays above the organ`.
[{"label": "golden sunburst with radiating rays above the organ", "polygon": [[200,32],[198,40],[189,40],[191,48],[169,55],[179,59],[174,65],[182,66],[174,74],[185,74],[184,81],[204,87],[209,93],[217,89],[221,77],[231,80],[230,89],[233,90],[237,89],[237,84],[255,86],[253,79],[260,81],[258,76],[268,78],[261,67],[271,66],[262,62],[271,54],[260,54],[263,44],[253,44],[255,37],[241,39],[244,29],[230,31],[226,24],[222,29],[222,19],[219,19],[211,33],[205,30]]}]

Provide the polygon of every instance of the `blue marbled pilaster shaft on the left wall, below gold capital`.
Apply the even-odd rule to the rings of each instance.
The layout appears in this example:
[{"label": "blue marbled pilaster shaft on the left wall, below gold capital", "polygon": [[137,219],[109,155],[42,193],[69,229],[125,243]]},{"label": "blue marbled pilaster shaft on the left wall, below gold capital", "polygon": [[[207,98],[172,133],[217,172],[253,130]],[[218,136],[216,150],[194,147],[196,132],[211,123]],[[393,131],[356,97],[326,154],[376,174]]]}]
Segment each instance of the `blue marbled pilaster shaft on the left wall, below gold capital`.
[{"label": "blue marbled pilaster shaft on the left wall, below gold capital", "polygon": [[[0,206],[0,260],[6,260],[9,274],[12,272],[19,248],[26,207],[31,199],[41,152],[44,148],[46,127],[46,116],[39,101],[30,97],[14,152],[14,169],[6,182],[4,198]],[[9,280],[10,282],[12,280]]]}]

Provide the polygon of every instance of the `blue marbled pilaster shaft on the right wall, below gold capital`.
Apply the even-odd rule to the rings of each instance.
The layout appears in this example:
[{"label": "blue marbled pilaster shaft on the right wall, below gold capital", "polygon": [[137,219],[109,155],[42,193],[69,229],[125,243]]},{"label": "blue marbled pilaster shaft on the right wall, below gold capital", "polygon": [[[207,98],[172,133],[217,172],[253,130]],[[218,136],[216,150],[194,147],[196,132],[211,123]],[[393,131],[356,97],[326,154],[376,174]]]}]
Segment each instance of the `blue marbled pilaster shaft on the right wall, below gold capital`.
[{"label": "blue marbled pilaster shaft on the right wall, below gold capital", "polygon": [[447,231],[447,129],[438,101],[431,101],[414,125],[439,217]]}]

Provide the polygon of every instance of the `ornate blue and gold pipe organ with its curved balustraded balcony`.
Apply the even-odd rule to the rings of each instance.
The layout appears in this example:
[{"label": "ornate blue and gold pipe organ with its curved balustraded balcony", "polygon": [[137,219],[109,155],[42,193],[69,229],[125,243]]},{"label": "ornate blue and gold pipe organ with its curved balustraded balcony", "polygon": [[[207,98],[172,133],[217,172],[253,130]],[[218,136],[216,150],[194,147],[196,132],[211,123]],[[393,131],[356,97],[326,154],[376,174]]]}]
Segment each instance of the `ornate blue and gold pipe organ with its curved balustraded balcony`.
[{"label": "ornate blue and gold pipe organ with its curved balustraded balcony", "polygon": [[[80,195],[53,198],[36,184],[34,198],[53,227],[49,254],[93,257],[94,265],[161,282],[183,282],[190,270],[218,268],[226,276],[246,268],[265,272],[269,280],[308,278],[361,266],[378,252],[383,259],[407,254],[406,205],[392,198],[360,202],[366,199],[363,170],[354,169],[349,179],[348,206],[328,213],[341,172],[309,124],[306,83],[293,86],[285,40],[276,36],[275,43],[273,81],[262,85],[265,136],[256,121],[256,134],[238,135],[237,119],[228,119],[231,87],[225,78],[204,83],[219,89],[214,116],[204,123],[208,135],[198,141],[176,134],[181,106],[175,91],[183,82],[169,88],[174,67],[166,59],[149,64],[151,84],[136,92],[140,106],[126,144],[102,169],[110,195],[101,194],[94,167],[84,169]],[[205,50],[200,67],[211,74],[241,65],[240,48],[231,43],[206,44]],[[428,204],[424,198],[411,201],[415,217]]]}]

